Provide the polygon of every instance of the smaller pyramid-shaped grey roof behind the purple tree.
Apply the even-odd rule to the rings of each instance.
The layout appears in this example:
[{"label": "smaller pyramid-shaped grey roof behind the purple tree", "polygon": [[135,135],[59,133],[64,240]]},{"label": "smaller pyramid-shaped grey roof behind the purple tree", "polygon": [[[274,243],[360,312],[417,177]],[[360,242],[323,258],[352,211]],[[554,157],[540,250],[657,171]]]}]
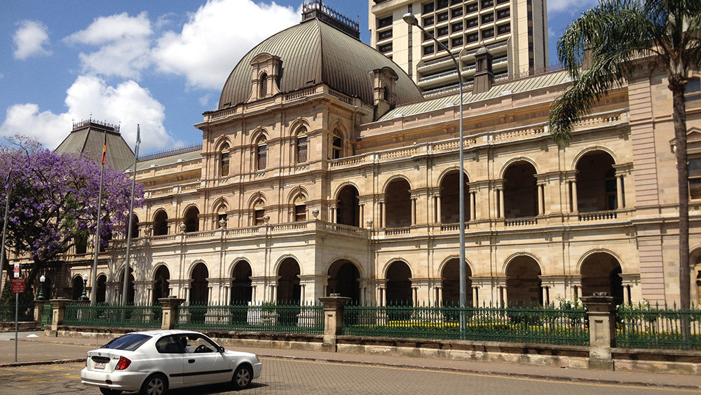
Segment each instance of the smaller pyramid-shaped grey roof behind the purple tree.
[{"label": "smaller pyramid-shaped grey roof behind the purple tree", "polygon": [[134,164],[134,152],[119,133],[119,126],[99,123],[92,119],[73,124],[73,130],[54,152],[57,154],[89,153],[96,161],[102,160],[104,134],[107,133],[107,166],[124,171]]}]

